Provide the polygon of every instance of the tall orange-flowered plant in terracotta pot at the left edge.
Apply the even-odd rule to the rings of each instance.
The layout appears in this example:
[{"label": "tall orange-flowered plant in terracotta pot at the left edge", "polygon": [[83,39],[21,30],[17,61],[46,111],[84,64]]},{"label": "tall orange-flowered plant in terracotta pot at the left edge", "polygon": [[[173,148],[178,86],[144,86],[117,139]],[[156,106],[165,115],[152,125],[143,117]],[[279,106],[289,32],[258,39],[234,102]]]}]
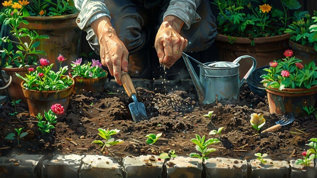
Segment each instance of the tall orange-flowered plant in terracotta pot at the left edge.
[{"label": "tall orange-flowered plant in terracotta pot at the left edge", "polygon": [[28,68],[37,65],[38,55],[46,55],[43,50],[38,50],[40,42],[36,40],[49,38],[47,35],[39,35],[36,31],[28,28],[20,28],[22,24],[28,24],[23,17],[28,16],[26,7],[28,2],[15,3],[11,0],[4,1],[4,6],[0,12],[0,23],[10,28],[10,34],[13,36],[10,40],[9,36],[0,38],[1,52],[1,69],[7,75],[12,76],[12,82],[8,87],[8,93],[11,100],[21,99],[26,104],[26,98],[22,94],[20,83],[22,80],[15,74],[25,76]]}]

